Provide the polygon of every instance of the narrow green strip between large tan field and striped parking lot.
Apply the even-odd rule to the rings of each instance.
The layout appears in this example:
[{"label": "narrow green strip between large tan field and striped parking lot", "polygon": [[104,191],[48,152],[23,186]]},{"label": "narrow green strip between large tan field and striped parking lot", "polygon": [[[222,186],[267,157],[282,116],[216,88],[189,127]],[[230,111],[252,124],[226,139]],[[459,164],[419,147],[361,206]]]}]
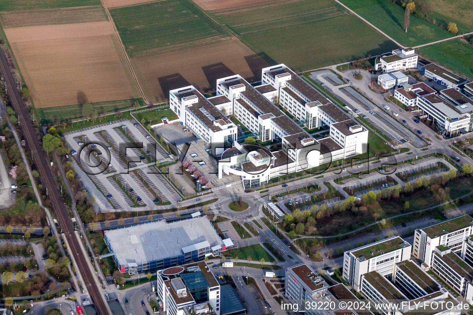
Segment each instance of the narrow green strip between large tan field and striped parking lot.
[{"label": "narrow green strip between large tan field and striped parking lot", "polygon": [[[140,106],[144,105],[142,98],[120,100],[120,101],[109,101],[109,102],[96,102],[92,103],[94,108],[97,109],[99,114],[110,113],[118,110],[130,109],[133,107],[135,101],[140,102]],[[76,105],[65,105],[56,107],[45,107],[38,108],[38,113],[43,120],[43,123],[48,122],[60,122],[70,119],[82,118],[82,104]]]}]

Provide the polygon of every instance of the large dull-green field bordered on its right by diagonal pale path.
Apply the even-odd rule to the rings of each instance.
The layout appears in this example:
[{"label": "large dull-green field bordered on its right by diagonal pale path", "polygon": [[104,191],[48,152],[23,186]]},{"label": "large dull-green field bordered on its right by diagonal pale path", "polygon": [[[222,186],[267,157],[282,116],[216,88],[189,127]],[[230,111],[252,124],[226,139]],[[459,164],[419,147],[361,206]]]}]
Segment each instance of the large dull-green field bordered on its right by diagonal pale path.
[{"label": "large dull-green field bordered on its right by diagonal pale path", "polygon": [[264,2],[248,10],[212,14],[268,62],[284,62],[296,71],[374,56],[397,47],[330,0],[280,5]]}]

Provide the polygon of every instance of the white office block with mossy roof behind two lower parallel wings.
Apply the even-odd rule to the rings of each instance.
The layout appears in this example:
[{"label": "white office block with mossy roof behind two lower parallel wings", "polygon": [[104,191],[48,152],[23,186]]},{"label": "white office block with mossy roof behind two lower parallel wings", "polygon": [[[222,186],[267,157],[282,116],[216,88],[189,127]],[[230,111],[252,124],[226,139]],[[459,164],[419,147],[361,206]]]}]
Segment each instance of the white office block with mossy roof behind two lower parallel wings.
[{"label": "white office block with mossy roof behind two lower parallel wings", "polygon": [[397,263],[409,259],[411,245],[395,236],[373,244],[346,251],[343,257],[343,278],[359,291],[361,276],[377,271],[387,279],[392,279]]}]

